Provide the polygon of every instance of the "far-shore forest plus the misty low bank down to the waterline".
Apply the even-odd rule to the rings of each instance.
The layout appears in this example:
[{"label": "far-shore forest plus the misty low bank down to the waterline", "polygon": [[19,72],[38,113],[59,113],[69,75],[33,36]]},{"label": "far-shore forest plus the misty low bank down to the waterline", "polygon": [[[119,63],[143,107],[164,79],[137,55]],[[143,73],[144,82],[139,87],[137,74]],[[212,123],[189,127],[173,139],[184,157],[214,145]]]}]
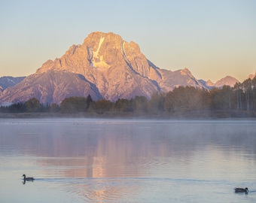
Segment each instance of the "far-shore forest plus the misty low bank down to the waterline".
[{"label": "far-shore forest plus the misty low bank down to the waterline", "polygon": [[178,86],[170,92],[154,92],[151,98],[64,98],[60,104],[41,104],[37,98],[0,106],[0,117],[156,117],[243,118],[256,117],[256,77],[223,86],[200,89]]}]

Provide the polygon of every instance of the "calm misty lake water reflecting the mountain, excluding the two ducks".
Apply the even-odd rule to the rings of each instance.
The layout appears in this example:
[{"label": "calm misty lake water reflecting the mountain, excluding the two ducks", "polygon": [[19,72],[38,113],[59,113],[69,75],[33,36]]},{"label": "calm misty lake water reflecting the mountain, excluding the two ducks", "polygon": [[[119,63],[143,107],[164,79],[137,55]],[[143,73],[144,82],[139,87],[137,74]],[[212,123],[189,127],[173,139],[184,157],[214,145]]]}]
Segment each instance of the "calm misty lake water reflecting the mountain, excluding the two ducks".
[{"label": "calm misty lake water reflecting the mountain, excluding the two ducks", "polygon": [[0,202],[256,202],[256,120],[0,120]]}]

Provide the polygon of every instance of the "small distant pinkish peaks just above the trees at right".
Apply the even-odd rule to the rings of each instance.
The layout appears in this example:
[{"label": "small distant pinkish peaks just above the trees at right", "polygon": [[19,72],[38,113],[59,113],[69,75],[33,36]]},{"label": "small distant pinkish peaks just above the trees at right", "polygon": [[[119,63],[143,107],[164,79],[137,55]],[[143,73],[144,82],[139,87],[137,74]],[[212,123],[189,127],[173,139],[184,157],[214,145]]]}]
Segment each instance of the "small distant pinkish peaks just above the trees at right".
[{"label": "small distant pinkish peaks just above the trees at right", "polygon": [[211,80],[200,80],[200,82],[203,83],[203,86],[205,86],[207,89],[212,89],[214,87],[221,88],[224,85],[233,87],[236,83],[239,83],[239,80],[237,80],[235,77],[226,76],[221,78],[221,80],[218,80],[216,83],[212,83]]}]

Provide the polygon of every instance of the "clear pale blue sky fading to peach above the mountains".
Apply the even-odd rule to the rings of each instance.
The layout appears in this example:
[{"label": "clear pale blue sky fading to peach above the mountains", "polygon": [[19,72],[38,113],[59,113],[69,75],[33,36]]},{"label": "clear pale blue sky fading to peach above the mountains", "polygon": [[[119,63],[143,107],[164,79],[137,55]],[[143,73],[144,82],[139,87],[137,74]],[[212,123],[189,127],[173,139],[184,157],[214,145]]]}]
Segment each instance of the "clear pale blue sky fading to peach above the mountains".
[{"label": "clear pale blue sky fading to peach above the mountains", "polygon": [[0,27],[0,77],[33,74],[95,31],[197,79],[242,82],[256,71],[255,0],[0,0]]}]

